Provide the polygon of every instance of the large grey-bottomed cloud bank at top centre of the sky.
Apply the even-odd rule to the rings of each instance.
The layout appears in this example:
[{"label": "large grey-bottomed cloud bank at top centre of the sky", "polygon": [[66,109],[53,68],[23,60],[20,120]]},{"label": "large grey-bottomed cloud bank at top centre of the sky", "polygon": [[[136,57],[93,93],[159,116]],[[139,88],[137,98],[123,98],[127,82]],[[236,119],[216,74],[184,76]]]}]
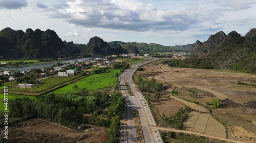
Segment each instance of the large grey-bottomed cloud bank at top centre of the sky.
[{"label": "large grey-bottomed cloud bank at top centre of the sky", "polygon": [[[67,4],[68,7],[58,10],[51,17],[61,18],[70,24],[84,27],[112,30],[186,31],[191,27],[199,26],[204,20],[200,19],[200,16],[206,16],[200,11],[194,12],[191,16],[188,10],[182,12],[157,10],[152,4],[144,4],[137,0],[76,0]],[[60,7],[55,6],[55,8]]]}]

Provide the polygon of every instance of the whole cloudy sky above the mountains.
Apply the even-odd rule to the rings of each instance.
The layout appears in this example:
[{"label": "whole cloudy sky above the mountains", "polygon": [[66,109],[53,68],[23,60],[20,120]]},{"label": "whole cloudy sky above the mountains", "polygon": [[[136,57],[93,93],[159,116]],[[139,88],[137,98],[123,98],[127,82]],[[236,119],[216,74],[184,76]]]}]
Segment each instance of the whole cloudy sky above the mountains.
[{"label": "whole cloudy sky above the mountains", "polygon": [[256,0],[0,0],[0,30],[54,30],[64,41],[157,43],[206,41],[219,31],[256,28]]}]

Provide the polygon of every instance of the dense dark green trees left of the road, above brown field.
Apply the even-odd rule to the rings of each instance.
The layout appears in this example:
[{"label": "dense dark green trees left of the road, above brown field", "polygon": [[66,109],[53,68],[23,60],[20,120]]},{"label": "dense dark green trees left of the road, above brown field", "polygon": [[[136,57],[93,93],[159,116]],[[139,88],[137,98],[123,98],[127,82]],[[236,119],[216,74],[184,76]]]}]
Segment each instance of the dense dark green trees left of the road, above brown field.
[{"label": "dense dark green trees left of the road, above brown field", "polygon": [[[118,142],[120,117],[124,114],[125,99],[119,92],[110,96],[106,92],[89,93],[88,89],[83,88],[58,96],[50,93],[38,101],[25,97],[16,98],[10,100],[8,105],[9,124],[32,118],[58,122],[70,128],[85,123],[109,127],[106,130],[106,142]],[[0,122],[4,125],[3,119]]]}]

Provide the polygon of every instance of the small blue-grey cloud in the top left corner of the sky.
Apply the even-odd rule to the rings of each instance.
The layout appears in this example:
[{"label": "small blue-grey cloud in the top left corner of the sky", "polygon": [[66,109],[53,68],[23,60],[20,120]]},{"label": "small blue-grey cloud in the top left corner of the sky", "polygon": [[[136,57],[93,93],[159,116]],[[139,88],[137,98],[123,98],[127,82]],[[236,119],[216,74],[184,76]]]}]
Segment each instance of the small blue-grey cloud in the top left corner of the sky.
[{"label": "small blue-grey cloud in the top left corner of the sky", "polygon": [[20,9],[27,6],[28,2],[26,0],[0,0],[0,9]]}]

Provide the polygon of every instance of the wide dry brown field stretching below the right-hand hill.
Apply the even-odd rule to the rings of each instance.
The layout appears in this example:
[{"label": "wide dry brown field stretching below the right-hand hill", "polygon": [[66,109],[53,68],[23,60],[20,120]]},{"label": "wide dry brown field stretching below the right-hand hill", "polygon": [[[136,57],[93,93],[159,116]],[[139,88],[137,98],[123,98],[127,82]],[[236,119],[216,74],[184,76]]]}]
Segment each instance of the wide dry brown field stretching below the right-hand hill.
[{"label": "wide dry brown field stretching below the right-hand hill", "polygon": [[175,87],[197,88],[214,94],[220,100],[231,98],[239,103],[249,103],[256,100],[256,88],[237,84],[238,81],[245,83],[256,81],[256,75],[253,74],[173,68],[161,64],[161,61],[143,67],[145,70],[138,71],[138,75],[145,75],[144,77],[149,79],[151,78],[150,75],[154,75],[157,81],[172,83]]}]

